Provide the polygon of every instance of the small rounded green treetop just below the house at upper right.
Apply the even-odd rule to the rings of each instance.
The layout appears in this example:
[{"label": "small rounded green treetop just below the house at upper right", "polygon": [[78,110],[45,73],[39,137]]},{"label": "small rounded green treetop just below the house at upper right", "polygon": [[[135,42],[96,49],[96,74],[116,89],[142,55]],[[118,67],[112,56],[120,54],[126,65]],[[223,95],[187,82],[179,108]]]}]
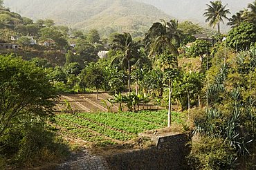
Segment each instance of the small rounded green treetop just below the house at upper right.
[{"label": "small rounded green treetop just below the house at upper right", "polygon": [[203,57],[203,55],[210,54],[211,47],[212,44],[210,44],[210,42],[197,39],[188,49],[188,55],[191,57]]}]

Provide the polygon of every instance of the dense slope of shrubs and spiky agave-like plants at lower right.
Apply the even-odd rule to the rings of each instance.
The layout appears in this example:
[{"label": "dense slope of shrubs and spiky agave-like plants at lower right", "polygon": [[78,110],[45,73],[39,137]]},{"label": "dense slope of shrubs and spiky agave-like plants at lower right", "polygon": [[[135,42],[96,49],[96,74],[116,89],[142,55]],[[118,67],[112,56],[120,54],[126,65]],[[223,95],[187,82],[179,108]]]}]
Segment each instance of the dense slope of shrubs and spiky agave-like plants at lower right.
[{"label": "dense slope of shrubs and spiky agave-like plants at lower right", "polygon": [[[211,72],[216,67],[208,71],[208,108],[205,113],[194,117],[194,132],[206,139],[192,144],[194,148],[190,158],[196,167],[235,169],[237,164],[243,164],[241,167],[244,168],[246,164],[251,164],[246,160],[249,157],[253,159],[250,154],[255,151],[254,55],[254,48],[230,55],[226,65],[221,65],[214,76]],[[221,147],[212,147],[211,140],[220,141]],[[205,147],[213,150],[205,152]],[[221,155],[224,157],[221,158]]]}]

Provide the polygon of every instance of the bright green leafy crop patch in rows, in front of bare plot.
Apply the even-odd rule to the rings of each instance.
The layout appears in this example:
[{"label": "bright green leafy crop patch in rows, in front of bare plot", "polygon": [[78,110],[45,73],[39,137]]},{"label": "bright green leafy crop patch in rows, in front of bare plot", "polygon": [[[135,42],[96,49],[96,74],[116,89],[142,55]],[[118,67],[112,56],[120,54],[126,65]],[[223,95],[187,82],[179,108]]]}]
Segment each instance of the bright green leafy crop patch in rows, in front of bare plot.
[{"label": "bright green leafy crop patch in rows, in front of bare plot", "polygon": [[[172,113],[172,121],[181,123],[182,113]],[[123,142],[136,138],[138,133],[167,126],[167,111],[138,113],[76,113],[55,115],[55,124],[63,135],[86,142]]]}]

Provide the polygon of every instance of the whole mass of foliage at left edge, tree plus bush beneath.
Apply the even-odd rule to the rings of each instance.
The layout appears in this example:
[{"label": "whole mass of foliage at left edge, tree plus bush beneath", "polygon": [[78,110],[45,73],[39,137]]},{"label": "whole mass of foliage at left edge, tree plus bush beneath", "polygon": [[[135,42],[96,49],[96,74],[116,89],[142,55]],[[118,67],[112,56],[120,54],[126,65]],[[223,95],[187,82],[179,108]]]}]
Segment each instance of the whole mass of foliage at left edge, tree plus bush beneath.
[{"label": "whole mass of foliage at left edge, tree plus bush beneath", "polygon": [[[0,57],[0,153],[11,162],[48,162],[64,151],[48,131],[57,94],[44,69],[12,56]],[[47,151],[49,155],[44,155]],[[60,158],[57,158],[59,157]]]}]

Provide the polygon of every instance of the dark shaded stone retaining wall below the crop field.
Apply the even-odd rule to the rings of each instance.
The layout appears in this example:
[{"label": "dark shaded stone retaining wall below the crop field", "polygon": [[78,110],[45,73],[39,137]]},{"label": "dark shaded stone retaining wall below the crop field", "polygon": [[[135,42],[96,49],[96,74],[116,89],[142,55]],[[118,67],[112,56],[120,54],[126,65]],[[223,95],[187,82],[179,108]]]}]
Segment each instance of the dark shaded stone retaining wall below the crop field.
[{"label": "dark shaded stone retaining wall below the crop field", "polygon": [[105,158],[110,169],[189,169],[185,157],[190,153],[185,134],[158,138],[157,146],[128,151]]}]

